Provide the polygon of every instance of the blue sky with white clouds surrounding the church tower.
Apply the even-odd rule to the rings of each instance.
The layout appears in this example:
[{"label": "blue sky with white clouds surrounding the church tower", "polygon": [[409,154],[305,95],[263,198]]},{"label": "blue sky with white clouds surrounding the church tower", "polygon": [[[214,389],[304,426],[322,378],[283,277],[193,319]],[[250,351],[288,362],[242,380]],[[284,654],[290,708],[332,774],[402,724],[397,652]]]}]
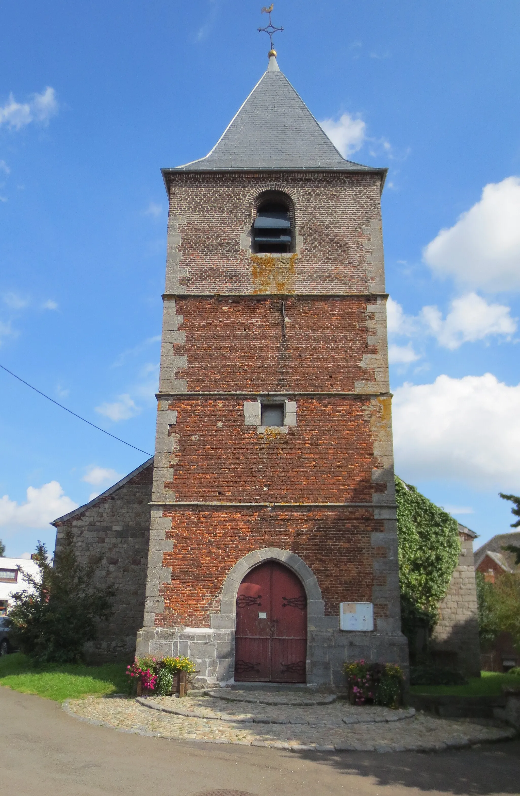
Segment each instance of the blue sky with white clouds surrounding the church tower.
[{"label": "blue sky with white clouds surrounding the church tower", "polygon": [[[260,6],[0,6],[0,362],[144,451],[159,169],[206,154],[264,72]],[[520,6],[278,0],[273,21],[280,68],[338,146],[389,166],[397,473],[481,540],[506,532],[498,490],[520,492]],[[53,549],[50,519],[145,458],[2,372],[0,449],[10,556],[38,538]]]}]

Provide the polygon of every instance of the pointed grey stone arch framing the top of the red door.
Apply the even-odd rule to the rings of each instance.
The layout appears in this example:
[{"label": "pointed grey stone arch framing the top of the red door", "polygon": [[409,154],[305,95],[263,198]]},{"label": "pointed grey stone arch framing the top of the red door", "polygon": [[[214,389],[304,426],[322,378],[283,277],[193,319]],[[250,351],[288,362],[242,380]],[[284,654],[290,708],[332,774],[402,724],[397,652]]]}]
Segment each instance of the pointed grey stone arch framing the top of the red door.
[{"label": "pointed grey stone arch framing the top of the red door", "polygon": [[211,626],[214,628],[233,628],[235,626],[235,615],[237,611],[237,591],[242,579],[252,568],[262,564],[264,561],[280,561],[285,564],[299,577],[305,587],[307,594],[307,617],[319,617],[325,615],[325,603],[322,599],[322,591],[319,583],[311,568],[303,559],[290,550],[280,550],[279,548],[264,548],[254,550],[247,556],[237,561],[237,564],[230,569],[221,592],[221,611],[211,617]]}]

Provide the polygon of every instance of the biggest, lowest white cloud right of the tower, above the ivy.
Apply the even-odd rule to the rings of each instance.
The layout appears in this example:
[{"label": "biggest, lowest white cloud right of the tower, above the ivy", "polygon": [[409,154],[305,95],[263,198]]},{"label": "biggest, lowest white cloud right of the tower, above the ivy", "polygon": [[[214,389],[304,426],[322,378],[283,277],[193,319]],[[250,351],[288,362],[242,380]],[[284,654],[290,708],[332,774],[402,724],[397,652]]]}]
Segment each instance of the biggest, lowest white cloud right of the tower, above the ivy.
[{"label": "biggest, lowest white cloud right of the tower, above the ivy", "polygon": [[491,373],[403,384],[394,392],[393,431],[396,470],[406,481],[520,489],[520,384]]}]

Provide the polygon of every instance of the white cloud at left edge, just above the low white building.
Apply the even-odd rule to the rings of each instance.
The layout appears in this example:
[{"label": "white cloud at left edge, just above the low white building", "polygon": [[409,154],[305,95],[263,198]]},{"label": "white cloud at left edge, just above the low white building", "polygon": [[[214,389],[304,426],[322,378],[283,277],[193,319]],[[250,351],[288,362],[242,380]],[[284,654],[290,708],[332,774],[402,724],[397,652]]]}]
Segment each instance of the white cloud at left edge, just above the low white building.
[{"label": "white cloud at left edge, just above the low white building", "polygon": [[25,503],[18,505],[8,495],[0,498],[0,525],[45,528],[50,521],[77,509],[77,505],[64,494],[57,481],[39,488],[29,486]]}]

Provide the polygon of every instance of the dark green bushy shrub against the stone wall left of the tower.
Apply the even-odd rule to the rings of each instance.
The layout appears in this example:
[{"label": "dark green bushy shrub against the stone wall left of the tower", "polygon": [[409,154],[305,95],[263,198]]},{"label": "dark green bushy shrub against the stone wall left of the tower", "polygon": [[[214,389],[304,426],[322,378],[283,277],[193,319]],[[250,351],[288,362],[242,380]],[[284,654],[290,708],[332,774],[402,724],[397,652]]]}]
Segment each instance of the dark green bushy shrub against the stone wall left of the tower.
[{"label": "dark green bushy shrub against the stone wall left of the tower", "polygon": [[70,529],[51,564],[45,544],[38,542],[39,572],[23,572],[29,588],[13,595],[10,611],[13,643],[39,663],[73,663],[83,655],[86,642],[97,635],[100,619],[111,614],[110,586],[92,586],[98,562],[80,564]]}]

